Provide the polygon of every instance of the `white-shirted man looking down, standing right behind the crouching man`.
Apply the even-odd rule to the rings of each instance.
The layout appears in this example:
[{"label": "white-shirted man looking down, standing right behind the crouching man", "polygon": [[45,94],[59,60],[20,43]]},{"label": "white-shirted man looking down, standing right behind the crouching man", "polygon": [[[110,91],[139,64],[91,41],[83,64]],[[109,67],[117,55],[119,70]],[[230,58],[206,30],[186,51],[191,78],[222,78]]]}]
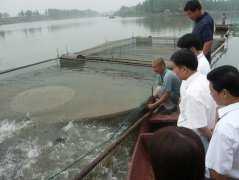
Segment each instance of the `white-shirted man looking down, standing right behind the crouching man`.
[{"label": "white-shirted man looking down, standing right behind the crouching man", "polygon": [[171,60],[174,72],[183,80],[177,125],[194,130],[207,150],[216,119],[216,103],[210,95],[209,82],[206,76],[197,72],[198,61],[192,51],[181,49]]}]

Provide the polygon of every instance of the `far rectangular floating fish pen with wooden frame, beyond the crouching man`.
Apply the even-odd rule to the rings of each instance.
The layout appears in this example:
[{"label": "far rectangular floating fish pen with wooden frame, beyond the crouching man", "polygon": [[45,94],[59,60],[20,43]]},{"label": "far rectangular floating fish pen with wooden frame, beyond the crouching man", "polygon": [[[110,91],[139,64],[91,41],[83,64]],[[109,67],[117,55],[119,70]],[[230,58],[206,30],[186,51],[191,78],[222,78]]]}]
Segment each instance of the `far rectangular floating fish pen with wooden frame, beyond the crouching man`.
[{"label": "far rectangular floating fish pen with wooden frame, beyond the crouching man", "polygon": [[[151,66],[153,59],[162,57],[168,66],[170,56],[177,50],[176,37],[132,37],[105,42],[81,52],[67,53],[61,56],[62,66],[75,66],[84,61],[103,61],[129,65]],[[224,47],[225,38],[216,37],[212,55],[215,56]]]}]

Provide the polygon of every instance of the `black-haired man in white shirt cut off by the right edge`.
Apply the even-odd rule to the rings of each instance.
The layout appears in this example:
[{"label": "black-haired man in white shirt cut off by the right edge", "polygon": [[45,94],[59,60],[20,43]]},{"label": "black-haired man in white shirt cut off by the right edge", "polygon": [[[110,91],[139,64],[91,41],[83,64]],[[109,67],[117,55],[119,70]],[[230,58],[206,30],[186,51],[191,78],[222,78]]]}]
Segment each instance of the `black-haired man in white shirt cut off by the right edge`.
[{"label": "black-haired man in white shirt cut off by the right edge", "polygon": [[206,155],[206,167],[215,180],[239,179],[239,72],[221,66],[208,76],[212,97],[218,105],[216,124]]}]

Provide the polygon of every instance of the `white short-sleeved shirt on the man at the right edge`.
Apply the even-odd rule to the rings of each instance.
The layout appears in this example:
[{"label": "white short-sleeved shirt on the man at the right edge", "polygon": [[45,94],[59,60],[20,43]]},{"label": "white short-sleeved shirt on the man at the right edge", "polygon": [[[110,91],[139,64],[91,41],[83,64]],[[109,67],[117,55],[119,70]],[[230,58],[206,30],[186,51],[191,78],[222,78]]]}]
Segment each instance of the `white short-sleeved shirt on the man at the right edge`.
[{"label": "white short-sleeved shirt on the man at the right edge", "polygon": [[206,167],[239,179],[239,103],[219,109],[217,123],[206,154]]}]

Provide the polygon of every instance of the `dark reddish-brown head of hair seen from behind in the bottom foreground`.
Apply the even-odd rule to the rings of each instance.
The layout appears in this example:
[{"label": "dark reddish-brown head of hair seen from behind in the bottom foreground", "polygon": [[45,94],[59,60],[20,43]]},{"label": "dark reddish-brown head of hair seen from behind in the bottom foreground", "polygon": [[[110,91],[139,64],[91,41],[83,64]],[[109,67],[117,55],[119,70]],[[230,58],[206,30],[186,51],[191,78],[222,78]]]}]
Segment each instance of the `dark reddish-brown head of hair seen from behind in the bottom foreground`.
[{"label": "dark reddish-brown head of hair seen from behind in the bottom foreground", "polygon": [[162,128],[153,134],[148,146],[155,179],[204,179],[204,147],[200,137],[191,129]]}]

